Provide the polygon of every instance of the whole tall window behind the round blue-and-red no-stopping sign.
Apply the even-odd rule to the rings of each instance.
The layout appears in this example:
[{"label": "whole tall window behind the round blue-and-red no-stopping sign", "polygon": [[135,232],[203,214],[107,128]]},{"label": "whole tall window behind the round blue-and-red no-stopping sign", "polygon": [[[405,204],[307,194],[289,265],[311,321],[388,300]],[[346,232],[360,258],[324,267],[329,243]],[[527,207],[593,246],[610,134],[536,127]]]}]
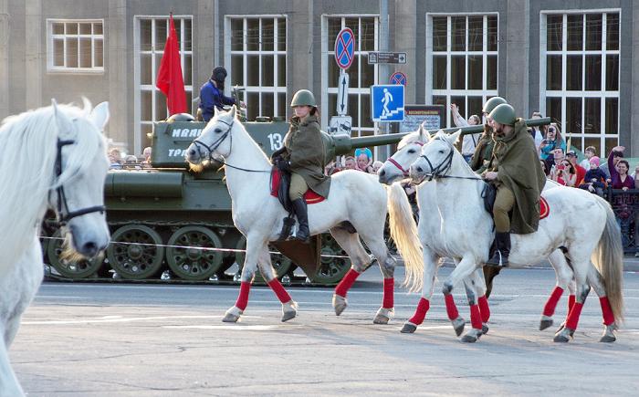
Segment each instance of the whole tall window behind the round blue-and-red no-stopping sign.
[{"label": "whole tall window behind the round blue-and-red no-stopping sign", "polygon": [[[344,27],[355,36],[354,56],[349,74],[348,115],[352,118],[351,136],[375,134],[371,120],[371,86],[377,84],[377,65],[369,65],[369,51],[377,51],[377,16],[325,16],[322,20],[322,130],[328,130],[330,116],[337,114],[340,68],[335,62],[335,39]],[[316,93],[317,95],[317,93]]]}]

